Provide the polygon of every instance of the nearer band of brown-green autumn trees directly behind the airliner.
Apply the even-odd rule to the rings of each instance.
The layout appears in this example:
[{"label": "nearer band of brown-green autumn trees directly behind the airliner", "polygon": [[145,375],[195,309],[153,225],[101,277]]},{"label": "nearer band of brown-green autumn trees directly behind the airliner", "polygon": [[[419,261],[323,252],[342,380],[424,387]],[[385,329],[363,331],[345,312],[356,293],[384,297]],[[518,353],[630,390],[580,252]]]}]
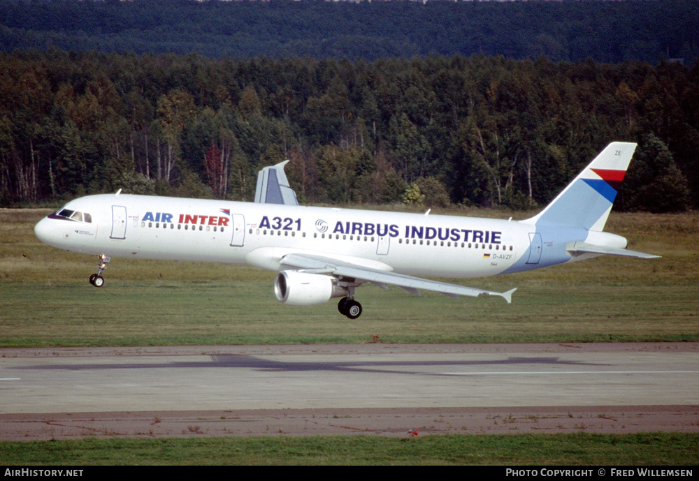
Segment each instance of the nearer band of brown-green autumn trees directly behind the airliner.
[{"label": "nearer band of brown-green autumn trees directly behind the airliner", "polygon": [[0,79],[3,206],[252,200],[257,170],[289,158],[303,202],[528,207],[613,140],[640,142],[621,207],[699,199],[696,64],[51,50],[0,54]]}]

